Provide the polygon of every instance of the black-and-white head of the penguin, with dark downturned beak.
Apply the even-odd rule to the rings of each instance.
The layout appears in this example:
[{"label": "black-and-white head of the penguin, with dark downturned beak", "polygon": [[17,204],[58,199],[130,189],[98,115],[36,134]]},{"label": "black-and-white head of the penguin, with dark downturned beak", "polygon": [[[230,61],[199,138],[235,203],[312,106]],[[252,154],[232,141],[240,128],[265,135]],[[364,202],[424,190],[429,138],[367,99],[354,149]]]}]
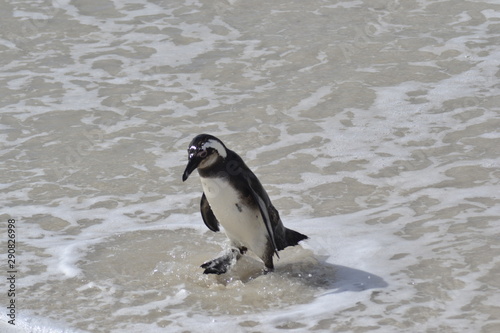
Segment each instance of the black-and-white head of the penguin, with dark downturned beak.
[{"label": "black-and-white head of the penguin, with dark downturned beak", "polygon": [[196,168],[207,168],[219,158],[226,158],[226,146],[210,134],[199,134],[189,144],[188,164],[182,175],[182,181],[188,179]]}]

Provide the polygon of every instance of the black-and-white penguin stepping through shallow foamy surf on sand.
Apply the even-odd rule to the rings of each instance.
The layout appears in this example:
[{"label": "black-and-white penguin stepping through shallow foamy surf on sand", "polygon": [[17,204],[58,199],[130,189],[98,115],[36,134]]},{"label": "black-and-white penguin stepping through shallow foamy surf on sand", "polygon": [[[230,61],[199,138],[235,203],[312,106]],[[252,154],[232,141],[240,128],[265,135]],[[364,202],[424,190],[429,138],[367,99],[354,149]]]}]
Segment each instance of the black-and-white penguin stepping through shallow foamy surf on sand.
[{"label": "black-and-white penguin stepping through shallow foamy surf on sand", "polygon": [[222,226],[231,245],[225,255],[201,265],[205,274],[226,273],[247,251],[263,261],[266,272],[272,271],[278,251],[308,238],[284,227],[259,179],[215,136],[199,134],[189,144],[182,181],[195,169],[203,188],[203,222],[214,232]]}]

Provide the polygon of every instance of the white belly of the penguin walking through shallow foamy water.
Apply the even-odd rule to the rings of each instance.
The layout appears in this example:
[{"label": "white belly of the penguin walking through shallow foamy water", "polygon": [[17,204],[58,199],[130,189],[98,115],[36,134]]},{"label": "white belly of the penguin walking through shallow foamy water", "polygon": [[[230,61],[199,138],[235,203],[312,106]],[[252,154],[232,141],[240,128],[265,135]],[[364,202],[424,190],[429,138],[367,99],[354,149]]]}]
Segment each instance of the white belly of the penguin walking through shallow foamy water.
[{"label": "white belly of the penguin walking through shallow foamy water", "polygon": [[262,257],[268,234],[260,211],[245,206],[229,182],[221,178],[201,178],[210,208],[235,246],[245,246]]}]

